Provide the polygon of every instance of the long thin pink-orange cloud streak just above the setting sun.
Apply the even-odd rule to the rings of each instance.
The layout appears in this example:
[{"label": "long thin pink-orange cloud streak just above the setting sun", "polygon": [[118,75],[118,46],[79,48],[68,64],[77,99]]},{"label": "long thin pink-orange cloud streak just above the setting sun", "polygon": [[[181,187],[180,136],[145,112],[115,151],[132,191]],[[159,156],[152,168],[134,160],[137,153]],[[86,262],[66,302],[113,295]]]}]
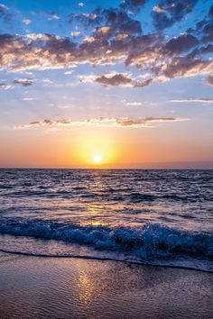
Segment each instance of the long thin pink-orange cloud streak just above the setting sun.
[{"label": "long thin pink-orange cloud streak just above the setting sun", "polygon": [[137,119],[129,119],[129,118],[91,118],[91,119],[83,119],[83,120],[70,120],[70,119],[60,119],[57,121],[51,121],[50,119],[43,119],[42,121],[32,121],[27,124],[23,124],[21,126],[16,126],[15,129],[27,129],[27,128],[57,128],[57,127],[69,127],[73,125],[92,125],[97,127],[132,127],[132,128],[146,128],[146,127],[154,127],[154,123],[173,123],[173,122],[181,122],[187,121],[188,119],[181,119],[175,117],[145,117],[137,118]]}]

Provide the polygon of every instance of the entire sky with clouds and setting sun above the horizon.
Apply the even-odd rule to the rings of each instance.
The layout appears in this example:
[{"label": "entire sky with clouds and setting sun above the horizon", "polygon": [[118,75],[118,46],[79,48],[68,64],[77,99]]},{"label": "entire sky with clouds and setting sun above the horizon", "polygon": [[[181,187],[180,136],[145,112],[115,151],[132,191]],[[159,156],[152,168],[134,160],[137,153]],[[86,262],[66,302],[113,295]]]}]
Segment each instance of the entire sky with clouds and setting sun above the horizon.
[{"label": "entire sky with clouds and setting sun above the horizon", "polygon": [[213,169],[210,0],[0,0],[0,168]]}]

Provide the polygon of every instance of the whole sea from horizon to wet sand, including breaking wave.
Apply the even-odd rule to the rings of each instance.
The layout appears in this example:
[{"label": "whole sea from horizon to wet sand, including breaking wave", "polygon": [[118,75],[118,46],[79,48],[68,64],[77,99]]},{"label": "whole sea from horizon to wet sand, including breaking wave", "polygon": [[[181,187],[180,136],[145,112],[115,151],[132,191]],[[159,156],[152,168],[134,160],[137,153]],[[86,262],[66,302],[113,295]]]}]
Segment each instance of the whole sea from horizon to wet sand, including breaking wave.
[{"label": "whole sea from horizon to wet sand, including breaking wave", "polygon": [[0,251],[213,271],[213,170],[0,169]]}]

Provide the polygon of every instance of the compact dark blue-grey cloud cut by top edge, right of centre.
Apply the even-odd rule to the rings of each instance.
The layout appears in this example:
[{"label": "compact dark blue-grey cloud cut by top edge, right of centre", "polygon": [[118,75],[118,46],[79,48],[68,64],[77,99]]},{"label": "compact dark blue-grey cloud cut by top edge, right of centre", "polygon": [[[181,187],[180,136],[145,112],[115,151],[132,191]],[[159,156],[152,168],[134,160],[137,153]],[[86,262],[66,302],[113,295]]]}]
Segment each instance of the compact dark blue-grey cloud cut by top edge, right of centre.
[{"label": "compact dark blue-grey cloud cut by top edge, right of centre", "polygon": [[153,23],[157,30],[171,27],[189,14],[198,0],[162,0],[153,7]]}]

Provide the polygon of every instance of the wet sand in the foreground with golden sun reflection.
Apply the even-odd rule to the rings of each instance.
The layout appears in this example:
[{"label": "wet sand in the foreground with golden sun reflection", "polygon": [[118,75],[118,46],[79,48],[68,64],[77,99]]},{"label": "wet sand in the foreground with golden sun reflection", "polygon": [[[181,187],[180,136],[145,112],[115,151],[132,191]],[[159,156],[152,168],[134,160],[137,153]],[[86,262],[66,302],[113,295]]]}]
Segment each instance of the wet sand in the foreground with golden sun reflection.
[{"label": "wet sand in the foreground with golden sun reflection", "polygon": [[212,318],[213,275],[0,254],[0,318]]}]

